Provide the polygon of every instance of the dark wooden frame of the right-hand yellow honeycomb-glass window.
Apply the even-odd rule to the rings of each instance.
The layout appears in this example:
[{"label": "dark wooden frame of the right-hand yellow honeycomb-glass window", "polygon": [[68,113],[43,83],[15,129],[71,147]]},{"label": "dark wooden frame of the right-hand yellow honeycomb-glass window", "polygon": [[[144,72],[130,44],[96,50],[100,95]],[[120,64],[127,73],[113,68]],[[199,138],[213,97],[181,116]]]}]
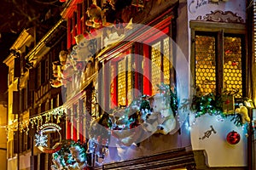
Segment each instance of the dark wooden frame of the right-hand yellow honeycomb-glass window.
[{"label": "dark wooden frame of the right-hand yellow honeycomb-glass window", "polygon": [[[245,45],[242,50],[241,56],[244,57],[244,62],[242,64],[242,96],[247,96],[247,37],[246,37],[246,25],[245,24],[237,24],[237,23],[220,23],[220,22],[212,22],[212,21],[201,21],[201,20],[191,20],[189,22],[190,27],[190,71],[192,75],[191,84],[195,86],[195,36],[198,35],[198,32],[213,34],[216,35],[216,55],[218,56],[217,62],[221,62],[224,59],[224,36],[232,35],[236,37],[244,38]],[[201,34],[200,34],[201,35]],[[238,36],[239,35],[239,36]],[[220,43],[219,43],[220,42]],[[216,72],[223,72],[223,67],[219,67],[216,65]],[[216,74],[217,75],[217,74]],[[222,88],[224,87],[223,81],[218,81],[223,79],[223,74],[218,74],[216,77],[216,93],[220,94]],[[221,83],[222,82],[222,83]],[[192,93],[192,92],[191,92]]]}]

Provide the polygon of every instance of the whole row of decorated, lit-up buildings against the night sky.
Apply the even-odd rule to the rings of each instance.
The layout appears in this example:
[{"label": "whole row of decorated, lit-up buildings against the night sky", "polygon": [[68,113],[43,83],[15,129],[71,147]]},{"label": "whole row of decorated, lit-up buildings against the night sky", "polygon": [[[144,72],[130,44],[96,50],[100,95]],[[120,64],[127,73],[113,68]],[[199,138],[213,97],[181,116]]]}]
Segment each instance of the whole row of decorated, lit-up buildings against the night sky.
[{"label": "whole row of decorated, lit-up buildings against the night sky", "polygon": [[[28,54],[21,33],[4,61],[9,169],[253,169],[250,3],[61,2],[63,19]],[[49,122],[61,149],[38,150],[32,125]]]}]

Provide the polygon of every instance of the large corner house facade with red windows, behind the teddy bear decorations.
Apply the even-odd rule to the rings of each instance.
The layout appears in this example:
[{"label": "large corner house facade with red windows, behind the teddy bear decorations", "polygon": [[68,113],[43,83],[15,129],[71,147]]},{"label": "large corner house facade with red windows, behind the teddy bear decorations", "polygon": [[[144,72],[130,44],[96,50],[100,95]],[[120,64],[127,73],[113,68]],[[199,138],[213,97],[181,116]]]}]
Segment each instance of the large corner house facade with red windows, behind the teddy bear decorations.
[{"label": "large corner house facade with red windows, behind the teddy bear decorations", "polygon": [[[178,110],[177,127],[180,128],[178,135],[172,133],[173,136],[159,138],[154,134],[148,138],[149,142],[143,140],[139,146],[140,150],[143,150],[143,147],[151,147],[148,152],[142,151],[144,155],[137,149],[131,151],[128,147],[124,151],[119,150],[117,146],[118,150],[115,151],[109,148],[109,154],[111,155],[113,151],[118,156],[106,160],[125,162],[127,159],[146,157],[164,150],[184,147],[195,152],[197,168],[247,168],[250,166],[248,160],[251,159],[249,153],[253,152],[247,140],[247,133],[251,129],[248,115],[254,107],[251,100],[255,98],[250,90],[253,88],[251,86],[253,67],[250,64],[253,58],[247,53],[247,2],[150,2],[131,1],[122,4],[123,6],[119,1],[113,4],[109,4],[109,1],[66,2],[67,8],[64,9],[62,16],[67,20],[67,48],[78,52],[79,55],[79,49],[76,48],[79,48],[80,42],[84,41],[79,39],[79,35],[84,34],[87,40],[94,39],[94,52],[85,61],[90,60],[96,68],[93,72],[97,72],[97,75],[92,74],[91,78],[85,78],[84,86],[76,87],[78,93],[83,96],[82,99],[87,100],[82,102],[83,106],[79,106],[81,99],[79,95],[76,95],[78,98],[73,98],[73,94],[67,93],[69,96],[67,114],[73,115],[76,112],[77,115],[77,108],[84,108],[85,105],[86,109],[89,108],[91,117],[101,117],[105,112],[116,107],[131,105],[132,101],[142,94],[155,96],[158,94],[156,84],[163,82],[177,89],[179,107],[184,106],[183,99],[189,99],[191,96],[194,96],[194,99],[196,97],[201,99],[202,96],[202,99],[213,99],[212,104],[202,105],[200,102],[196,103],[202,102],[198,100],[192,102],[195,105],[193,111]],[[115,8],[113,13],[108,5]],[[87,8],[88,15],[84,14],[84,7]],[[97,13],[101,13],[101,16]],[[113,14],[112,20],[108,18],[108,14]],[[117,17],[115,14],[120,15]],[[136,29],[133,27],[135,31],[129,32],[129,24],[119,25],[120,20],[129,23],[131,19],[133,26],[143,24],[145,26],[143,31],[135,26]],[[108,30],[111,26],[114,29]],[[147,26],[150,28],[147,29]],[[164,32],[173,42],[168,38],[165,39],[161,33],[154,32],[154,29]],[[122,37],[122,34],[126,37]],[[95,37],[91,38],[91,35]],[[79,58],[72,53],[71,57]],[[166,62],[165,59],[170,62]],[[90,71],[85,67],[84,72]],[[83,72],[80,71],[78,77],[83,78],[83,76]],[[79,81],[83,82],[83,80]],[[86,89],[87,85],[91,87]],[[68,88],[67,85],[67,92],[73,92]],[[93,94],[97,99],[96,104],[90,103],[92,98],[88,92],[90,90],[96,91],[96,94]],[[90,95],[89,100],[87,94]],[[209,97],[208,94],[213,97]],[[252,105],[244,104],[245,100]],[[236,110],[239,109],[239,105],[247,107],[246,121],[242,118],[243,113]],[[212,111],[204,110],[204,107],[212,108]],[[81,113],[84,115],[83,112],[78,112],[78,115]],[[115,112],[110,112],[110,115],[113,113]],[[86,120],[84,123],[87,123]],[[83,130],[84,128],[79,127],[72,118],[67,123],[67,136],[71,139],[79,139],[81,133],[90,136],[86,134],[86,130],[85,132]],[[228,134],[233,134],[233,131],[240,136],[237,144],[230,144],[228,139]],[[123,136],[118,136],[119,138],[122,144],[130,146],[129,139],[123,139]],[[132,138],[136,140],[137,137],[132,136]],[[170,147],[161,144],[161,138],[170,139],[168,140]],[[161,146],[159,150],[153,149],[154,145],[150,144],[150,139],[160,142],[157,143]],[[172,141],[175,141],[175,144],[172,145]],[[218,143],[218,146],[212,147],[215,143]],[[216,148],[222,150],[223,159],[220,158]],[[122,153],[125,153],[125,156],[122,156]],[[224,159],[230,155],[232,158]],[[113,167],[108,167],[108,161],[104,161],[103,167],[113,168],[112,164]],[[119,166],[124,165],[125,163]]]}]

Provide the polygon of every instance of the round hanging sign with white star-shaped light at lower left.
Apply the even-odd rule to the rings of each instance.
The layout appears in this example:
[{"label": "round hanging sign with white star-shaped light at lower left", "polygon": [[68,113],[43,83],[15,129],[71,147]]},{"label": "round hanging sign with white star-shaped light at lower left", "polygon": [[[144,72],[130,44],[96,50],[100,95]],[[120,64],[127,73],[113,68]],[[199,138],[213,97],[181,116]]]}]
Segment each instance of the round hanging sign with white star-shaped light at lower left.
[{"label": "round hanging sign with white star-shaped light at lower left", "polygon": [[[38,127],[38,133],[35,134],[35,146],[38,146],[38,149],[44,153],[55,153],[58,150],[61,150],[61,127],[55,123],[46,123]],[[58,133],[59,142],[55,143],[53,146],[49,144],[50,133]]]}]

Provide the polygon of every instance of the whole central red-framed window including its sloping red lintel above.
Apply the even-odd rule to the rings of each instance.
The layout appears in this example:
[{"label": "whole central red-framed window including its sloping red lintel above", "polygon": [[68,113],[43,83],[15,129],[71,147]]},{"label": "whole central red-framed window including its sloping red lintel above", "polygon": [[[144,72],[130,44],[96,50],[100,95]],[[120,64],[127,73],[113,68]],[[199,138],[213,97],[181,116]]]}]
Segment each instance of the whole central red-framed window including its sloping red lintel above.
[{"label": "whole central red-framed window including its sloping red lintel above", "polygon": [[170,15],[158,22],[154,20],[157,24],[153,28],[134,35],[135,38],[138,37],[136,40],[139,42],[133,43],[131,49],[127,50],[129,53],[121,50],[126,48],[127,44],[122,44],[116,47],[116,51],[111,52],[122,54],[111,59],[110,64],[105,61],[104,65],[107,76],[104,76],[103,82],[111,81],[110,89],[104,88],[105,101],[109,99],[110,94],[111,102],[105,102],[109,108],[129,105],[142,94],[154,95],[158,93],[157,84],[161,82],[169,84],[171,88],[175,86],[171,38],[171,35],[175,36],[175,32],[172,32],[172,18]]}]

